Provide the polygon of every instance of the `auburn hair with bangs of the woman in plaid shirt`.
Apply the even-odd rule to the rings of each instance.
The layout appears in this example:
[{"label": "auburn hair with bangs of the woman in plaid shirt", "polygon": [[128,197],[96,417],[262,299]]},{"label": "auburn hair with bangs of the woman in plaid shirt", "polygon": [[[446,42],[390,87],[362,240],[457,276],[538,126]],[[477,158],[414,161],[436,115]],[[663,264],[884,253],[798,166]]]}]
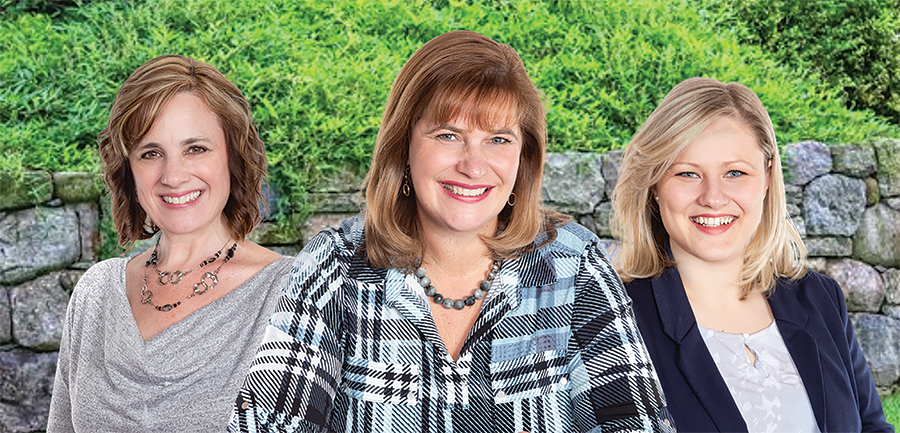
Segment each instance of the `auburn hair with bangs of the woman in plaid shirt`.
[{"label": "auburn hair with bangs of the woman in plaid shirt", "polygon": [[[369,262],[379,268],[411,269],[422,257],[415,189],[407,197],[401,188],[410,136],[426,110],[429,120],[438,124],[461,114],[486,130],[498,122],[517,122],[523,140],[514,206],[500,212],[498,233],[482,239],[498,259],[516,257],[555,239],[555,227],[566,217],[542,205],[547,121],[541,95],[512,47],[458,30],[419,48],[391,86],[364,182]],[[536,239],[541,240],[536,244]]]}]

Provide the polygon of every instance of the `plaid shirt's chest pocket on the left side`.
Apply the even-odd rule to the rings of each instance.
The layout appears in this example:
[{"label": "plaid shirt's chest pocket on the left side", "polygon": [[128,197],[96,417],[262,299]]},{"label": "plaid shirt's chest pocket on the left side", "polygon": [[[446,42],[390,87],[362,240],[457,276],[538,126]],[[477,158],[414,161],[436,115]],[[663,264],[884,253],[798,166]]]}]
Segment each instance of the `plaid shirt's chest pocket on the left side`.
[{"label": "plaid shirt's chest pocket on the left side", "polygon": [[350,357],[342,373],[344,392],[373,403],[415,405],[419,400],[419,366],[385,364]]}]

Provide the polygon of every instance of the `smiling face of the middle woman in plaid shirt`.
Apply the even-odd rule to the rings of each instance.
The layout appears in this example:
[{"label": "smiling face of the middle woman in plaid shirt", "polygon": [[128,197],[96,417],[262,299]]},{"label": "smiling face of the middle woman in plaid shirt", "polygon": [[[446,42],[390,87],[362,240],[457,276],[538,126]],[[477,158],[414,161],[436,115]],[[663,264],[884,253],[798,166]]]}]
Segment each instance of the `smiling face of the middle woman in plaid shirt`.
[{"label": "smiling face of the middle woman in plaid shirt", "polygon": [[522,151],[518,124],[484,130],[465,110],[440,124],[430,119],[428,113],[421,117],[409,141],[419,230],[493,235],[516,183]]}]

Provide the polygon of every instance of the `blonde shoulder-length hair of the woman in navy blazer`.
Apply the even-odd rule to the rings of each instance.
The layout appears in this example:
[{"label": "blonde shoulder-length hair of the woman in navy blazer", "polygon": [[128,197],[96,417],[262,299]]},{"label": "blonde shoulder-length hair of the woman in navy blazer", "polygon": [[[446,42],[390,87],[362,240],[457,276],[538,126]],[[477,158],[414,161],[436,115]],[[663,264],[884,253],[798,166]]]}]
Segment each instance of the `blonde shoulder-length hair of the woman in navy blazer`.
[{"label": "blonde shoulder-length hair of the woman in navy blazer", "polygon": [[618,241],[613,262],[623,281],[657,277],[675,265],[650,190],[684,148],[721,118],[733,120],[755,137],[771,163],[762,220],[743,253],[738,282],[742,297],[753,290],[768,293],[778,277],[796,279],[806,273],[806,248],[787,213],[775,131],[762,101],[739,83],[690,78],[675,86],[650,114],[628,143],[619,166],[611,224]]}]

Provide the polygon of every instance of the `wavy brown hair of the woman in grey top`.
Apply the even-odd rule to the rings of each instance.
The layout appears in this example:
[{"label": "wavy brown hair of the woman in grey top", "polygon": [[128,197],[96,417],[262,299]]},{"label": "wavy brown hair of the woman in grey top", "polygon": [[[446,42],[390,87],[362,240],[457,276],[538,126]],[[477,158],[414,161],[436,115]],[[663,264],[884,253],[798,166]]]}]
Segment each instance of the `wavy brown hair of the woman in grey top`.
[{"label": "wavy brown hair of the woman in grey top", "polygon": [[231,236],[244,239],[262,219],[266,148],[244,95],[208,63],[178,55],[161,56],[144,63],[125,80],[97,140],[113,224],[124,248],[159,231],[137,200],[128,157],[166,103],[180,93],[200,98],[225,132],[231,193],[222,212]]}]

